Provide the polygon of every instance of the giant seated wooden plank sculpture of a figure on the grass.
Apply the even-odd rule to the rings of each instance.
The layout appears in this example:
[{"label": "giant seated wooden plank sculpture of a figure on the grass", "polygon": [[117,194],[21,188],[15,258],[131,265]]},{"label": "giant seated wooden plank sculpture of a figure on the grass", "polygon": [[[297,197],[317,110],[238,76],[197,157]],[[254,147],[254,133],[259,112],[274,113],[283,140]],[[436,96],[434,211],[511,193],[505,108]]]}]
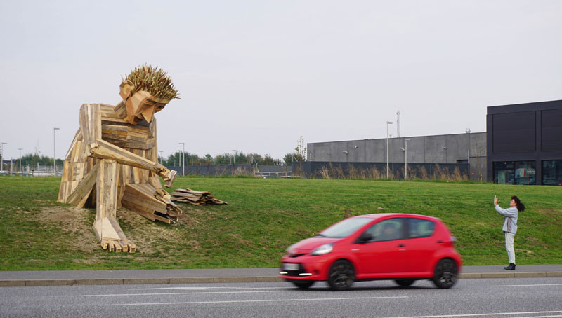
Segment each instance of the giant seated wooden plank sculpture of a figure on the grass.
[{"label": "giant seated wooden plank sculpture of a figure on the grass", "polygon": [[134,252],[117,221],[117,207],[170,223],[181,214],[162,188],[176,177],[158,163],[154,114],[179,98],[162,69],[136,67],[119,86],[117,106],[83,104],[80,128],[65,157],[58,201],[96,207],[93,231],[103,249]]}]

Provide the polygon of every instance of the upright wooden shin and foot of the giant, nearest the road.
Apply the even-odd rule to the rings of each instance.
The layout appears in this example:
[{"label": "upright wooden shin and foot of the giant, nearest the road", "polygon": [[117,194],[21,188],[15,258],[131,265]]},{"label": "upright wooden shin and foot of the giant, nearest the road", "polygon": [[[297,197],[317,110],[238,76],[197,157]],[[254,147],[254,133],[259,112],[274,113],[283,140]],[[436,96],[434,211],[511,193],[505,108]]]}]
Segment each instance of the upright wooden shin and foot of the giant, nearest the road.
[{"label": "upright wooden shin and foot of the giant, nearest the road", "polygon": [[117,162],[103,159],[98,163],[96,180],[96,220],[93,231],[101,247],[110,251],[133,253],[135,244],[130,242],[117,222]]}]

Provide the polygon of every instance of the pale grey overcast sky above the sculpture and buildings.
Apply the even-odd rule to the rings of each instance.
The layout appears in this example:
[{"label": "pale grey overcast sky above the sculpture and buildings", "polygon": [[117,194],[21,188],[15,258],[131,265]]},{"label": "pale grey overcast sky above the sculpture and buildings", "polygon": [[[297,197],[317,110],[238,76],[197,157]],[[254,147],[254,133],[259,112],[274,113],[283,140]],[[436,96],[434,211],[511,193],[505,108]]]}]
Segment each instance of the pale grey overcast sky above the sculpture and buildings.
[{"label": "pale grey overcast sky above the sculpture and buildings", "polygon": [[[562,99],[562,1],[1,1],[5,158],[65,155],[83,103],[138,64],[181,99],[159,151],[485,131],[486,106]],[[396,125],[391,126],[396,136]]]}]

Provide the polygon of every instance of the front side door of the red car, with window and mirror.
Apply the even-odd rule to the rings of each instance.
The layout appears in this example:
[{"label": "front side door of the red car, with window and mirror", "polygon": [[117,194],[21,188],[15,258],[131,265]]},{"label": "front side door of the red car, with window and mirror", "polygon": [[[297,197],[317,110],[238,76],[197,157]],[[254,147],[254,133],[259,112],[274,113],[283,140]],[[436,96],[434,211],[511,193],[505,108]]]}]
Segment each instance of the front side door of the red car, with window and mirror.
[{"label": "front side door of the red car, with window and mirror", "polygon": [[[389,231],[393,228],[393,232]],[[372,239],[365,243],[354,244],[352,251],[358,259],[360,275],[388,274],[404,271],[404,238],[405,226],[403,218],[386,219],[374,223],[365,233]]]}]

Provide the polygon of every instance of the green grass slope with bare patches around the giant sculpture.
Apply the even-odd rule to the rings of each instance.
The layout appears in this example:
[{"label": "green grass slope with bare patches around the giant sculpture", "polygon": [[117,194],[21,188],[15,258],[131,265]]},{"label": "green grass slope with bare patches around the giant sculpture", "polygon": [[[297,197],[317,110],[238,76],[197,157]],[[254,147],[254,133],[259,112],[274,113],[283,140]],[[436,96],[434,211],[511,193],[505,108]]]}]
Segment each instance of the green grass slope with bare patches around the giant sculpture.
[{"label": "green grass slope with bare patches around the giant sculpture", "polygon": [[380,212],[443,219],[457,237],[465,265],[507,263],[503,217],[518,195],[518,265],[562,263],[561,188],[466,182],[179,177],[174,188],[210,191],[228,205],[181,205],[169,226],[119,209],[136,254],[100,249],[95,209],[56,202],[60,178],[0,177],[0,270],[276,267],[290,244],[332,223]]}]

